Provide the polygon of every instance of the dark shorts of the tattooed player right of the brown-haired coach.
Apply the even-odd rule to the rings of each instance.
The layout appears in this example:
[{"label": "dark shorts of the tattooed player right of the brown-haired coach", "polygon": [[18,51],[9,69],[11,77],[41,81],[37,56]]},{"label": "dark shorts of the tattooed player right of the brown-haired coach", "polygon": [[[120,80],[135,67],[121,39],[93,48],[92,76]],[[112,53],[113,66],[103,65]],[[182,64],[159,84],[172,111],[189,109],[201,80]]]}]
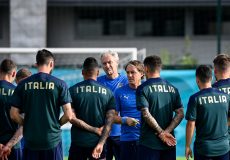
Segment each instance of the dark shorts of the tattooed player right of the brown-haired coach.
[{"label": "dark shorts of the tattooed player right of the brown-haired coach", "polygon": [[176,160],[176,148],[156,150],[139,145],[138,160]]}]

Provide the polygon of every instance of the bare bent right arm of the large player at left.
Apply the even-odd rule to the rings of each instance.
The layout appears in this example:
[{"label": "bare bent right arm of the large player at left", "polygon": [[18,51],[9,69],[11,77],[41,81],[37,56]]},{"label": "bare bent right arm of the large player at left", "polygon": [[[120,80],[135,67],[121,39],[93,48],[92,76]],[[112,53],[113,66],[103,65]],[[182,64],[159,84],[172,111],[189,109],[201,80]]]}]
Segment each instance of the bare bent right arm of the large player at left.
[{"label": "bare bent right arm of the large player at left", "polygon": [[63,105],[63,112],[64,112],[64,114],[59,120],[61,126],[66,124],[67,122],[71,121],[71,119],[73,117],[73,112],[72,112],[72,108],[71,108],[70,103]]}]

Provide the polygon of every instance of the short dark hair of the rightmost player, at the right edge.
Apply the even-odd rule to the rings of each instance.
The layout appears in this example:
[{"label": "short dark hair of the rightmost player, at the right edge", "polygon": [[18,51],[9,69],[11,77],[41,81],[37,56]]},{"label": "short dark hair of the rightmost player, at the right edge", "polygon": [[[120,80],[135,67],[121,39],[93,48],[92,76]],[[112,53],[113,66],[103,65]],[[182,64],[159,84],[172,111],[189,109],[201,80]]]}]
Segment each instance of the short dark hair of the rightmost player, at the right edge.
[{"label": "short dark hair of the rightmost player, at the right edge", "polygon": [[220,72],[225,72],[230,68],[230,56],[227,54],[219,54],[213,60],[214,67]]}]

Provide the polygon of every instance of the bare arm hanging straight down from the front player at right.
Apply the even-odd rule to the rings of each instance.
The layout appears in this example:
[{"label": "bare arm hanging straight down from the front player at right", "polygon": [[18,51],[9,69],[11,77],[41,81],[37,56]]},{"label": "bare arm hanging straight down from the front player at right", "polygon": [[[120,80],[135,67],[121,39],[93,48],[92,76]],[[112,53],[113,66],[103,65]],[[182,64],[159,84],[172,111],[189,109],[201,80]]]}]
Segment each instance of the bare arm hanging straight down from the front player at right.
[{"label": "bare arm hanging straight down from the front player at right", "polygon": [[191,143],[192,143],[192,137],[195,130],[195,121],[187,121],[186,124],[186,146],[185,146],[185,157],[186,159],[189,159],[189,157],[192,158],[192,150],[191,150]]}]

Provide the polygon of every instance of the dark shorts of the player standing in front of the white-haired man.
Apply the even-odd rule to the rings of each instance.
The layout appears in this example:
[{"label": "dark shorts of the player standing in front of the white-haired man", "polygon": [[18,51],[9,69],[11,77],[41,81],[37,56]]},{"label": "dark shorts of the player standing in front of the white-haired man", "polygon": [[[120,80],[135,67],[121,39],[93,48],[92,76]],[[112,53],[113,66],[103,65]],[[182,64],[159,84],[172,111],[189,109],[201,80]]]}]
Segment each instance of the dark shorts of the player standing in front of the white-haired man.
[{"label": "dark shorts of the player standing in front of the white-haired man", "polygon": [[[95,160],[92,157],[93,150],[94,147],[81,147],[71,143],[68,160]],[[105,159],[105,147],[103,147],[103,151],[99,159]]]}]

